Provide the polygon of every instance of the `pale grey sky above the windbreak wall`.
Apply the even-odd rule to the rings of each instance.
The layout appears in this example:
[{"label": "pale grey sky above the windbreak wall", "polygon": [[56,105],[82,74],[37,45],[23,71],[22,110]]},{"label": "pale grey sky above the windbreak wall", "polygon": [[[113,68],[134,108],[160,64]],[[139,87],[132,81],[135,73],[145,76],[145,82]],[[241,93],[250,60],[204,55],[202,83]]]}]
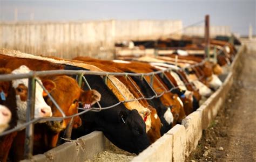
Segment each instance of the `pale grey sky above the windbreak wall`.
[{"label": "pale grey sky above the windbreak wall", "polygon": [[6,1],[0,0],[0,20],[103,20],[170,19],[190,25],[210,15],[211,25],[229,25],[241,35],[253,26],[256,34],[256,0],[194,1]]}]

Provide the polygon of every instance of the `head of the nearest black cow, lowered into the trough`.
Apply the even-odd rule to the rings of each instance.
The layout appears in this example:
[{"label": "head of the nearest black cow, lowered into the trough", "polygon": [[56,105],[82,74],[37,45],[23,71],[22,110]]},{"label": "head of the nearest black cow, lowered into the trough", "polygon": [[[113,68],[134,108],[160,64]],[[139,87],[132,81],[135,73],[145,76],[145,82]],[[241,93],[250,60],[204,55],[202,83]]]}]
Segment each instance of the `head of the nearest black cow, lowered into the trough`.
[{"label": "head of the nearest black cow, lowered into the trough", "polygon": [[139,154],[150,145],[146,124],[137,110],[119,111],[116,123],[103,132],[114,145],[131,153]]}]

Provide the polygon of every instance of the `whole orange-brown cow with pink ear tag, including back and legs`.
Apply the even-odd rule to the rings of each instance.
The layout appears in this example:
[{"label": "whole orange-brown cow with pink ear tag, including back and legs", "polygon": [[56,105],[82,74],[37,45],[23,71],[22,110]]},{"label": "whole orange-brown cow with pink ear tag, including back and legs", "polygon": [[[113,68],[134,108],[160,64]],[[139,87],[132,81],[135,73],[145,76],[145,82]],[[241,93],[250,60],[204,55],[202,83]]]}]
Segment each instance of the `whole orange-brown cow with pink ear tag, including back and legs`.
[{"label": "whole orange-brown cow with pink ear tag, including back and legs", "polygon": [[[40,67],[33,66],[33,65],[36,65],[38,63],[43,63],[42,65],[47,65],[45,61],[35,61],[35,60],[32,61],[32,60],[8,58],[8,57],[4,57],[4,60],[6,61],[5,66],[9,67],[9,68],[15,68],[21,64],[23,64],[23,65],[25,64],[25,65],[29,65],[34,70],[37,70],[36,68],[40,68]],[[8,61],[8,60],[10,60],[10,61]],[[33,62],[34,64],[31,64],[31,62]],[[52,67],[55,68],[57,66],[53,65]],[[50,67],[44,66],[44,68],[50,68]],[[79,99],[86,97],[87,91],[81,90],[79,88],[77,82],[74,79],[72,79],[68,76],[45,77],[43,79],[42,83],[44,84],[45,88],[48,89],[48,91],[51,93],[53,98],[55,98],[56,102],[60,105],[60,107],[63,109],[63,111],[65,112],[65,114],[67,116],[76,114],[78,112],[78,110],[77,110],[78,101],[79,101]],[[54,86],[52,83],[54,84]],[[36,87],[39,87],[39,85],[37,85]],[[23,87],[19,87],[19,88],[23,88]],[[49,89],[49,88],[51,88],[51,89]],[[26,88],[24,88],[24,89],[26,90]],[[24,94],[26,94],[26,93],[24,92]],[[42,95],[43,95],[43,91],[42,91],[41,96]],[[81,95],[81,97],[80,97],[80,95]],[[60,97],[60,96],[62,96],[62,97]],[[97,96],[97,97],[100,98],[100,96]],[[43,96],[42,96],[42,98],[43,98]],[[53,111],[53,116],[55,116],[55,117],[62,116],[60,114],[60,112],[56,109],[55,105],[52,104],[49,97],[44,96],[44,98],[48,102],[48,104],[51,105],[51,108]],[[46,122],[46,124],[48,125],[47,126],[48,129],[43,129],[42,124],[41,124],[41,126],[39,126],[42,129],[35,129],[35,136],[38,134],[42,134],[42,135],[45,134],[45,136],[47,135],[47,137],[48,137],[48,140],[42,140],[43,136],[42,136],[42,138],[35,138],[35,141],[34,141],[35,150],[41,150],[38,152],[43,153],[44,151],[47,151],[47,150],[51,149],[52,147],[55,147],[58,142],[58,136],[59,136],[60,131],[62,131],[66,128],[66,125],[68,125],[69,121],[70,121],[70,118],[64,119],[63,121]],[[81,119],[78,116],[75,117],[73,127],[77,128],[81,124],[82,124]],[[38,125],[36,125],[36,126],[38,126]],[[46,132],[43,132],[44,130]],[[50,130],[50,132],[49,132],[49,130]],[[24,131],[23,131],[23,132],[19,132],[18,136],[15,138],[15,142],[14,142],[15,147],[14,148],[16,148],[17,151],[13,151],[13,152],[19,153],[19,156],[18,155],[14,156],[14,157],[17,157],[17,160],[20,160],[23,157],[22,150],[24,147],[24,140],[22,140],[22,139],[24,139],[24,137],[25,136],[24,136]],[[37,143],[39,143],[39,144],[37,144]],[[36,145],[38,145],[38,147],[36,147]]]}]

